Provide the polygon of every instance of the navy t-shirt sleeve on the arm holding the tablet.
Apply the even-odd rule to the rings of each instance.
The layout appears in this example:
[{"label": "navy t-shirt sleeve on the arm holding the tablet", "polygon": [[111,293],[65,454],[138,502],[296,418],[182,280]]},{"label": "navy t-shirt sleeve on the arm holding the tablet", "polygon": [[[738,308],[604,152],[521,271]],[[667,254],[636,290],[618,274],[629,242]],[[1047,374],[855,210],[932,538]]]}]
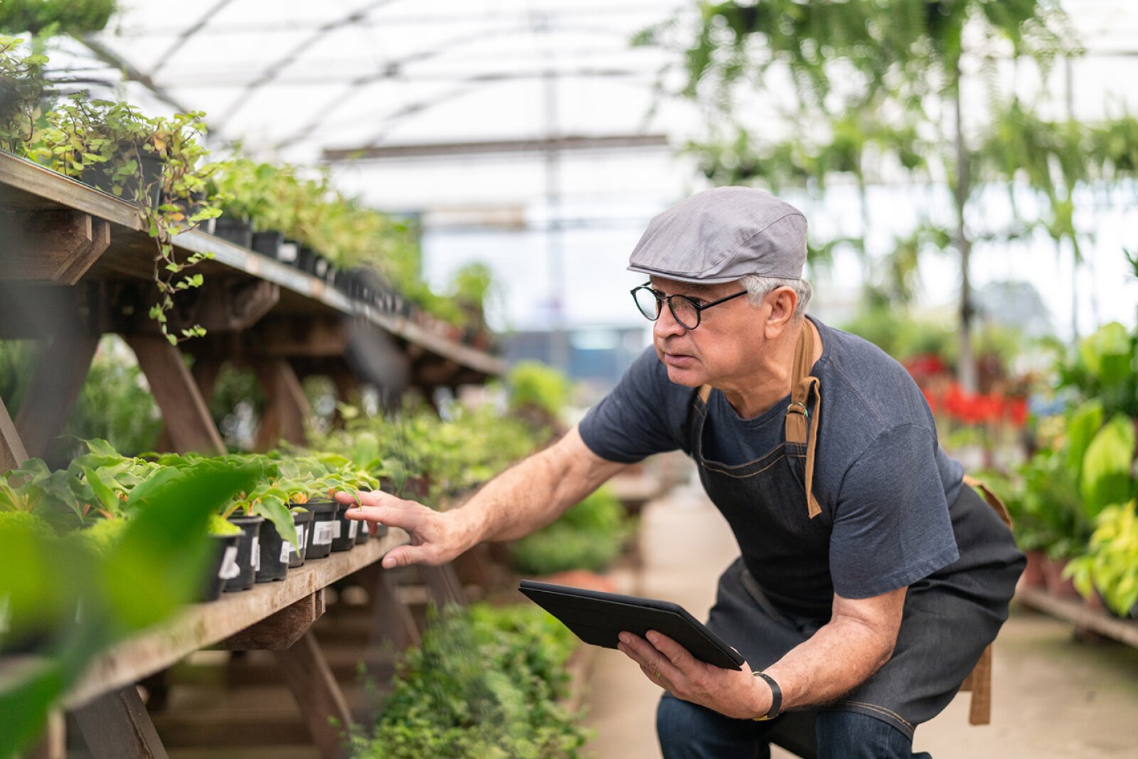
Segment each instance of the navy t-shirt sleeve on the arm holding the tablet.
[{"label": "navy t-shirt sleeve on the arm holding the tablet", "polygon": [[904,424],[882,432],[846,472],[830,542],[838,595],[881,595],[957,560],[935,448],[926,428]]}]

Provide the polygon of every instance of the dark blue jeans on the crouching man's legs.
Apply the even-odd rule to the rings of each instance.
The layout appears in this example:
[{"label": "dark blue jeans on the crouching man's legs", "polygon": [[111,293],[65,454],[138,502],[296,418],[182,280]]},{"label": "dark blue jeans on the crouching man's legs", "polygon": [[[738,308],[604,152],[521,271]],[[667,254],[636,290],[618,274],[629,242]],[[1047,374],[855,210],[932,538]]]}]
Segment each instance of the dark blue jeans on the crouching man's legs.
[{"label": "dark blue jeans on the crouching man's legs", "polygon": [[853,711],[797,711],[754,721],[665,694],[655,731],[663,759],[769,759],[772,742],[805,759],[932,759],[913,753],[913,740],[892,725]]}]

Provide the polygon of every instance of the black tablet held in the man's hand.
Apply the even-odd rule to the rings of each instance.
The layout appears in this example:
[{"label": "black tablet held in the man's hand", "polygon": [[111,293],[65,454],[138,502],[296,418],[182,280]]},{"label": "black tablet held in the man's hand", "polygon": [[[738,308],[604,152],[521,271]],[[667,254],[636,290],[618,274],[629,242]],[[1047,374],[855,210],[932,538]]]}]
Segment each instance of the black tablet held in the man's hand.
[{"label": "black tablet held in the man's hand", "polygon": [[649,630],[667,635],[693,657],[724,669],[742,669],[743,657],[670,601],[521,580],[518,589],[564,622],[585,643],[616,649],[621,630],[641,637]]}]

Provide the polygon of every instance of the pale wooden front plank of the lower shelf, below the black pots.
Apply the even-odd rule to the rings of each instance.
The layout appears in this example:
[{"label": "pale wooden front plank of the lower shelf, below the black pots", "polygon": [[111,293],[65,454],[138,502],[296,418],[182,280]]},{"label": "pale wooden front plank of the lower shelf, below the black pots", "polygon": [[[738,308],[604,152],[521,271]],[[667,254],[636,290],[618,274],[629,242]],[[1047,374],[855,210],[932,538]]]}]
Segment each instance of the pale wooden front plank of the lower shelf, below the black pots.
[{"label": "pale wooden front plank of the lower shelf, below the black pots", "polygon": [[262,583],[250,591],[225,593],[212,603],[193,604],[166,625],[124,641],[96,658],[68,694],[65,706],[80,706],[108,690],[137,683],[379,561],[388,551],[406,542],[406,533],[391,529],[384,537],[361,543],[352,551],[290,569],[283,581]]}]

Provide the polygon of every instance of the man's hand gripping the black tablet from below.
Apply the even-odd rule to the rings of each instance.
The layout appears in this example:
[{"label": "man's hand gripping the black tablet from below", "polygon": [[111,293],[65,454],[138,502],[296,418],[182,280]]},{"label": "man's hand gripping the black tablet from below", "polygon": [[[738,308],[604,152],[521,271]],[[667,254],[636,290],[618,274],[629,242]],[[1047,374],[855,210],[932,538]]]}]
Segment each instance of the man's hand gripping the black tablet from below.
[{"label": "man's hand gripping the black tablet from below", "polygon": [[745,663],[740,671],[702,662],[655,630],[649,630],[646,641],[621,633],[617,647],[640,665],[645,677],[677,699],[736,719],[761,717],[770,711],[770,688]]}]

